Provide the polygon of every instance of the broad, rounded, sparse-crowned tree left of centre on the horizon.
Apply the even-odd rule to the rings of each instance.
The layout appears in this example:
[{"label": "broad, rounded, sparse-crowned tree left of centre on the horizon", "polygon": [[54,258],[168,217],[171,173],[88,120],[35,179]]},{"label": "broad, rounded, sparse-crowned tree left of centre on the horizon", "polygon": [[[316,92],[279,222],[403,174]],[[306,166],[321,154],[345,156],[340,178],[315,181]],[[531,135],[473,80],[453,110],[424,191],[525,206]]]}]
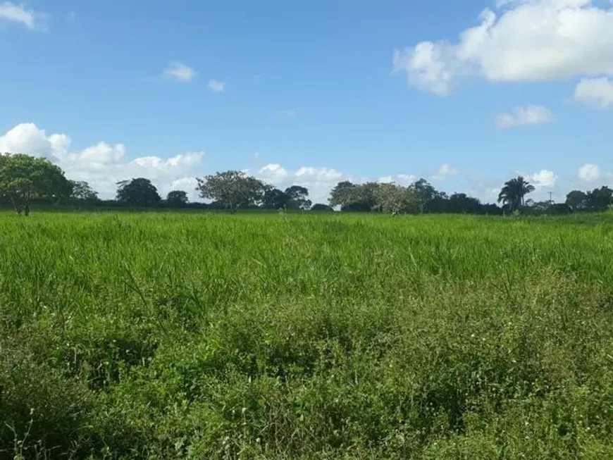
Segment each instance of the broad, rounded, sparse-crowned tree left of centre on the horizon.
[{"label": "broad, rounded, sparse-crowned tree left of centre on the horizon", "polygon": [[270,185],[261,180],[235,170],[206,175],[197,181],[196,189],[202,198],[218,201],[232,212],[261,204],[266,191],[271,189]]}]

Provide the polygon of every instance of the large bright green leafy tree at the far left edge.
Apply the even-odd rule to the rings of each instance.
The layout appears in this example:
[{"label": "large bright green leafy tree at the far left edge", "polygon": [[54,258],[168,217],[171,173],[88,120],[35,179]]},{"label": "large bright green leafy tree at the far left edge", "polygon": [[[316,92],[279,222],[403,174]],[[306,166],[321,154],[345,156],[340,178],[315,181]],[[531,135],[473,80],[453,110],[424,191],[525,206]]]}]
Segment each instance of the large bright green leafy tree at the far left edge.
[{"label": "large bright green leafy tree at the far left edge", "polygon": [[45,158],[0,155],[0,197],[10,199],[18,212],[25,209],[27,213],[32,199],[68,198],[72,189],[63,170]]}]

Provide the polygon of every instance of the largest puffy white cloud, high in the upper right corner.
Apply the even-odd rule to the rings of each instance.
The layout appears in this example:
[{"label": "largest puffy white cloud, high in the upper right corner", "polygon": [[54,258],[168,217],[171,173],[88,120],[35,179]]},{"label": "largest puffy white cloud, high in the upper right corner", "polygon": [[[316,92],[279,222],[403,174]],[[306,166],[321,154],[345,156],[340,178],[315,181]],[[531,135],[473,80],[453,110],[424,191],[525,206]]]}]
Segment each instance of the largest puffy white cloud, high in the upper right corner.
[{"label": "largest puffy white cloud, high in the upper right corner", "polygon": [[[597,6],[598,4],[598,6]],[[409,84],[441,96],[458,79],[497,82],[613,75],[613,5],[595,0],[502,0],[456,42],[423,41],[393,54]]]}]

